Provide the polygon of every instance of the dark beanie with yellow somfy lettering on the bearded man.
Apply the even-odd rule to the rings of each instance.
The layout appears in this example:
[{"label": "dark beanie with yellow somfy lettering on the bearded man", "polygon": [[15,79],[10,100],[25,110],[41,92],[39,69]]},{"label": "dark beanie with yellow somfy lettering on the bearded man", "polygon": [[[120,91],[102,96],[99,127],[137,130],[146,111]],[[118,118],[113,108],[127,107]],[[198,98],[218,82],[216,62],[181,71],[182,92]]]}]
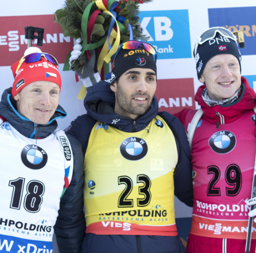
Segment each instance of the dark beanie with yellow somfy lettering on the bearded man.
[{"label": "dark beanie with yellow somfy lettering on the bearded man", "polygon": [[[151,53],[139,46],[136,49],[120,49],[118,55],[112,57],[111,78],[106,80],[110,83],[119,78],[125,71],[132,68],[148,68],[157,74],[157,63]],[[113,62],[114,60],[114,62]]]}]

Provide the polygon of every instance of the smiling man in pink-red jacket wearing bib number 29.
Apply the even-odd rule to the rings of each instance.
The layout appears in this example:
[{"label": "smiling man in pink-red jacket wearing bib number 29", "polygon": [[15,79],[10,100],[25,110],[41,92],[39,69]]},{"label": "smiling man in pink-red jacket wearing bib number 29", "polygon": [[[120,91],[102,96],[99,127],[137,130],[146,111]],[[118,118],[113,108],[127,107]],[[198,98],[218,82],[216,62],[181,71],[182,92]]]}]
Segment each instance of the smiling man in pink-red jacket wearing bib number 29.
[{"label": "smiling man in pink-red jacket wearing bib number 29", "polygon": [[[194,207],[187,253],[244,253],[256,154],[256,93],[241,77],[236,36],[206,30],[194,49],[203,84],[196,101],[202,116],[192,140]],[[188,130],[196,111],[175,116]],[[255,252],[256,224],[251,251]]]}]

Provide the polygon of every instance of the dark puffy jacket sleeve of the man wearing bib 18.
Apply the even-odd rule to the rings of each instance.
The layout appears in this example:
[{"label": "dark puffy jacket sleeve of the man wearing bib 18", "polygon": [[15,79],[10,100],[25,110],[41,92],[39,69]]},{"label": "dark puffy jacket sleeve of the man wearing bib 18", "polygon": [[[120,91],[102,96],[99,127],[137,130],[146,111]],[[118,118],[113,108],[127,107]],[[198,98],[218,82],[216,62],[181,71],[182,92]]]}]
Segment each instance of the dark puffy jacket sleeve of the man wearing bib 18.
[{"label": "dark puffy jacket sleeve of the man wearing bib 18", "polygon": [[74,156],[71,183],[60,199],[59,216],[54,226],[60,253],[80,253],[85,236],[83,212],[83,156],[78,140],[68,135]]}]

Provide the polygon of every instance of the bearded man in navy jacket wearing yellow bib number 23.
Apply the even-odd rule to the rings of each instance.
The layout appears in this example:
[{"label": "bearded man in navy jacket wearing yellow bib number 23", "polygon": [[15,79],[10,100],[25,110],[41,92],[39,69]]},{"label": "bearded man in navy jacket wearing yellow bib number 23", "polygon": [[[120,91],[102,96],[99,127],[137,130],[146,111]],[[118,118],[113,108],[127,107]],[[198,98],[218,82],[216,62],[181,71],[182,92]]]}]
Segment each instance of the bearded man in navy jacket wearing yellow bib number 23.
[{"label": "bearded man in navy jacket wearing yellow bib number 23", "polygon": [[123,42],[71,123],[85,159],[83,253],[184,252],[174,195],[193,205],[190,151],[179,120],[158,113],[156,59],[150,44]]}]

